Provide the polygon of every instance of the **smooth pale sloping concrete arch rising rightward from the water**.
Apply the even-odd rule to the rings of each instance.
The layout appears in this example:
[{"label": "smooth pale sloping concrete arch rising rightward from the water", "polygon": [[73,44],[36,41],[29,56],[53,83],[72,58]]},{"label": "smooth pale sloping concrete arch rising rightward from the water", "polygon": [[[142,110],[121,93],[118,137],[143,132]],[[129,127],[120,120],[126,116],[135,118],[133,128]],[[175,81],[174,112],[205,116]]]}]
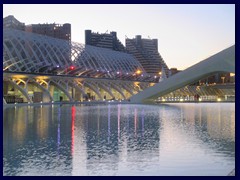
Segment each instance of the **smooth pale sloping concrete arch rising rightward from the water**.
[{"label": "smooth pale sloping concrete arch rising rightward from the water", "polygon": [[132,103],[151,103],[156,98],[219,72],[235,73],[235,45],[155,84],[132,97]]}]

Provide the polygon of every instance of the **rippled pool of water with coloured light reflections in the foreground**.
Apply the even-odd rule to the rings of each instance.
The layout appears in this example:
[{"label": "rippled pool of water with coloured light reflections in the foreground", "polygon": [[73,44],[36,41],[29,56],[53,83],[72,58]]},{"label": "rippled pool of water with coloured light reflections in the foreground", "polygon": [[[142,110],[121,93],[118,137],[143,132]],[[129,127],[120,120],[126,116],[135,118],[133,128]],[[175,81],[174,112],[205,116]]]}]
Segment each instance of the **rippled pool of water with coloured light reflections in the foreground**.
[{"label": "rippled pool of water with coloured light reflections in the foreground", "polygon": [[235,167],[235,104],[3,111],[3,175],[219,175]]}]

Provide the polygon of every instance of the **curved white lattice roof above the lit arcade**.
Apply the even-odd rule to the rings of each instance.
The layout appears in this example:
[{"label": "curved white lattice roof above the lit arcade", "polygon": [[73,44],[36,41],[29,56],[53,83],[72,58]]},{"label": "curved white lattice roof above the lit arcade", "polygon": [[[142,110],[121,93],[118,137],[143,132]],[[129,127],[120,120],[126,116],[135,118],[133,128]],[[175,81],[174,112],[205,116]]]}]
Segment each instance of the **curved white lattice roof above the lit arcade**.
[{"label": "curved white lattice roof above the lit arcade", "polygon": [[147,78],[130,54],[13,29],[3,29],[3,70],[136,80]]}]

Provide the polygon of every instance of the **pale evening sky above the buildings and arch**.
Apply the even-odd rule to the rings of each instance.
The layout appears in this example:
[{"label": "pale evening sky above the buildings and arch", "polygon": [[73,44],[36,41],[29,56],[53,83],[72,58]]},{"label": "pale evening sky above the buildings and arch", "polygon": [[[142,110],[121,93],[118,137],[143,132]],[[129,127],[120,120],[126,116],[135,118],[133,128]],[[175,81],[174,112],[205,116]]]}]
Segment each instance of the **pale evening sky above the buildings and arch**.
[{"label": "pale evening sky above the buildings and arch", "polygon": [[157,38],[159,53],[171,67],[185,69],[235,44],[234,4],[4,4],[3,17],[27,24],[71,23],[72,40],[85,43],[84,31],[116,31]]}]

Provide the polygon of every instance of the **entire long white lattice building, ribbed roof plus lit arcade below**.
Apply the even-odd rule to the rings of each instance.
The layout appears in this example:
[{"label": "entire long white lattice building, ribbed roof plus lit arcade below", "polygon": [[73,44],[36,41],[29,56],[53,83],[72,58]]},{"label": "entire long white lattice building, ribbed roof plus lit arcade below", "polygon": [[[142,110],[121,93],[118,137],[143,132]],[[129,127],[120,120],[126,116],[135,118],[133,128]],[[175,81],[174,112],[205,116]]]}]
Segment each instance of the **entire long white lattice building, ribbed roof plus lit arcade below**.
[{"label": "entire long white lattice building, ribbed roof plus lit arcade below", "polygon": [[146,79],[130,54],[3,29],[4,103],[126,100]]}]

